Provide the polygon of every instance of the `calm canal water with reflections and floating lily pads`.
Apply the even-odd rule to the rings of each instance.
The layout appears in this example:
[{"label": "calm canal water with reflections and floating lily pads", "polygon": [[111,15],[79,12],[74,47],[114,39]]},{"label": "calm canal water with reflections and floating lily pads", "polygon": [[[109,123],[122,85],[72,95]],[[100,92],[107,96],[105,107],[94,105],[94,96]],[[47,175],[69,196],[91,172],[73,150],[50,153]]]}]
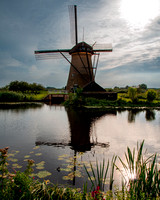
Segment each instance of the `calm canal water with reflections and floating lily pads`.
[{"label": "calm canal water with reflections and floating lily pads", "polygon": [[[35,160],[33,176],[82,187],[83,165],[145,140],[147,154],[160,153],[159,110],[72,110],[46,104],[0,105],[0,148],[9,146],[9,168],[24,170]],[[46,176],[48,175],[48,176]],[[120,176],[115,173],[116,181]],[[116,183],[115,181],[115,183]]]}]

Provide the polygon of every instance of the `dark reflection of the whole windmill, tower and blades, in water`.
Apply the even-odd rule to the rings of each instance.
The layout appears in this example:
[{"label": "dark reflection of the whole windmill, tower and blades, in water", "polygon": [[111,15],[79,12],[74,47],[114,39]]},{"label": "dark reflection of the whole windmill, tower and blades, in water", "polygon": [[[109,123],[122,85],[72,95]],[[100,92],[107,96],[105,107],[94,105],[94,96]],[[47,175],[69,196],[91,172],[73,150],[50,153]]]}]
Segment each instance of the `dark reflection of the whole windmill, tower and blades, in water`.
[{"label": "dark reflection of the whole windmill, tower and blades, in water", "polygon": [[77,152],[86,152],[90,151],[94,146],[100,146],[102,148],[108,148],[109,143],[100,143],[98,139],[92,139],[91,141],[91,127],[96,120],[103,117],[104,115],[112,114],[116,115],[116,110],[73,110],[66,109],[68,121],[70,124],[70,142],[64,143],[54,143],[54,142],[45,142],[45,141],[36,141],[36,145],[49,145],[56,147],[65,147],[70,146],[74,150],[73,155],[73,179],[72,184],[75,185],[76,181],[76,167],[77,167]]}]

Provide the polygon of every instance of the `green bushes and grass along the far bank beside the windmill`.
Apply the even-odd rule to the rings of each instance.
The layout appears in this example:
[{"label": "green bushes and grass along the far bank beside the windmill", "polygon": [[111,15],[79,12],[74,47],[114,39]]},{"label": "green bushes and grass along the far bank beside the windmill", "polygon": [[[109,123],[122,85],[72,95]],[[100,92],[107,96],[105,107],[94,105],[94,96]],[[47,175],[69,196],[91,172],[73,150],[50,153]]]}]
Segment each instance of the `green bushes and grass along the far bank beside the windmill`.
[{"label": "green bushes and grass along the far bank beside the windmill", "polygon": [[[13,102],[44,102],[48,94],[64,94],[64,89],[44,88],[40,84],[13,81],[0,89],[0,104]],[[145,84],[138,87],[106,89],[106,92],[116,92],[117,100],[84,98],[82,89],[69,94],[69,99],[63,102],[66,107],[74,108],[114,108],[114,109],[159,109],[160,89],[147,89]],[[54,103],[54,102],[53,102]]]}]

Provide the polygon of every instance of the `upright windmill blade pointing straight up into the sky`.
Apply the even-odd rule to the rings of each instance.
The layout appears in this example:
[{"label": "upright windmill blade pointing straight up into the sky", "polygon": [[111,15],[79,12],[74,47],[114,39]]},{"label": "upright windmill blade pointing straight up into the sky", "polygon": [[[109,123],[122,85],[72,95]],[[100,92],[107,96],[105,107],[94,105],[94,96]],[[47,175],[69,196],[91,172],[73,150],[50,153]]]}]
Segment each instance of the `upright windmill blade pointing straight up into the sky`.
[{"label": "upright windmill blade pointing straight up into the sky", "polygon": [[77,29],[77,6],[69,5],[69,18],[70,18],[70,34],[71,43],[73,45],[78,44],[78,29]]}]

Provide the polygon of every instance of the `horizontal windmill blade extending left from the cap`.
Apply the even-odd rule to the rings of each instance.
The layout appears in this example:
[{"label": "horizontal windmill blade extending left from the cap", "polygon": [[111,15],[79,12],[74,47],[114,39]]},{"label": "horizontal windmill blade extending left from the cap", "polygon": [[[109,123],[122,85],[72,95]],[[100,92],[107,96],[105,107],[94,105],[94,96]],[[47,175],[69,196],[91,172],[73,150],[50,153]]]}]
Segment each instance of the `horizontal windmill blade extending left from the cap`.
[{"label": "horizontal windmill blade extending left from the cap", "polygon": [[36,60],[47,60],[47,59],[61,59],[63,56],[60,52],[63,52],[67,58],[70,58],[70,49],[60,50],[37,50],[35,51]]}]

